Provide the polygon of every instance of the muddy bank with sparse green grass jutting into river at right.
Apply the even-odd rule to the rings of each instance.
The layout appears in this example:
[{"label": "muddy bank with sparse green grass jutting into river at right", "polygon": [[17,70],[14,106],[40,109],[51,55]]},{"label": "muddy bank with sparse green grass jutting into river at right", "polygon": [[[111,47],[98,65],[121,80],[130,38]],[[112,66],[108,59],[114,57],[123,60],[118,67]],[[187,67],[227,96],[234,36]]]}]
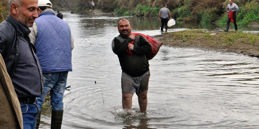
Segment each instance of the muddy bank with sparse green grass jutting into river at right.
[{"label": "muddy bank with sparse green grass jutting into river at right", "polygon": [[241,31],[184,30],[152,36],[175,48],[238,53],[259,58],[259,34]]}]

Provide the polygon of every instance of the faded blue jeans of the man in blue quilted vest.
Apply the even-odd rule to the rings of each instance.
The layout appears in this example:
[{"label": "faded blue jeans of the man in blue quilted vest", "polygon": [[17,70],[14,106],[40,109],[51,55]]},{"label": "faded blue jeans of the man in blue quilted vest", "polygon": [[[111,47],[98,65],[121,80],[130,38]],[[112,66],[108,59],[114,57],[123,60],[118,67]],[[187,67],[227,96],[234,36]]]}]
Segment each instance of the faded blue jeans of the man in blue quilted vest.
[{"label": "faded blue jeans of the man in blue quilted vest", "polygon": [[42,109],[42,104],[46,99],[46,95],[50,92],[52,110],[63,110],[63,95],[67,85],[66,72],[56,72],[43,74],[44,79],[44,93],[37,97],[39,101],[39,111]]}]

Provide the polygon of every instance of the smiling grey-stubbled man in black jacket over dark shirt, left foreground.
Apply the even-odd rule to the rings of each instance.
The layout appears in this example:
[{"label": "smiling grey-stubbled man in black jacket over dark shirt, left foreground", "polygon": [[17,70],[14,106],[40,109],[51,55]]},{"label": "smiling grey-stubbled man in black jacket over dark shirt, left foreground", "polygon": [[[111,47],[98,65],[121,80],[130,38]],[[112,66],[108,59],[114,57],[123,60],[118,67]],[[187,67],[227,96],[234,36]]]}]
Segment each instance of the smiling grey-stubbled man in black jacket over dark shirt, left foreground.
[{"label": "smiling grey-stubbled man in black jacket over dark shirt, left foreground", "polygon": [[37,14],[38,0],[9,0],[9,16],[0,24],[0,53],[20,102],[24,129],[36,128],[36,97],[43,93],[43,77],[29,27]]}]

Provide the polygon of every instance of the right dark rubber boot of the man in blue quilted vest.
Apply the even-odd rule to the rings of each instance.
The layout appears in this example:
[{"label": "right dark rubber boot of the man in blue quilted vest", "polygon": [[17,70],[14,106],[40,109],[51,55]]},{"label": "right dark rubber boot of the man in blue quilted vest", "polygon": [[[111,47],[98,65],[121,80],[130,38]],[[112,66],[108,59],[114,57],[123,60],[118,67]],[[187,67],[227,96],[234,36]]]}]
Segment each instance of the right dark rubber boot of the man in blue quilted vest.
[{"label": "right dark rubber boot of the man in blue quilted vest", "polygon": [[64,110],[52,110],[51,129],[61,129]]}]

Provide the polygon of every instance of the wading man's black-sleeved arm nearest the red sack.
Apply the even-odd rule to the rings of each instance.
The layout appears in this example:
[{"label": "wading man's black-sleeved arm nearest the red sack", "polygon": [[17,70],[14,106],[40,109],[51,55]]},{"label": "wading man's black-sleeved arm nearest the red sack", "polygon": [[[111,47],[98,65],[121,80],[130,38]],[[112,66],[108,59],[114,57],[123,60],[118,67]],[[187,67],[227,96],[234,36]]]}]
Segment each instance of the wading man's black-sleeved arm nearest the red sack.
[{"label": "wading man's black-sleeved arm nearest the red sack", "polygon": [[140,36],[140,46],[134,45],[133,52],[135,52],[138,55],[149,53],[152,51],[151,44],[149,41],[143,37]]}]

